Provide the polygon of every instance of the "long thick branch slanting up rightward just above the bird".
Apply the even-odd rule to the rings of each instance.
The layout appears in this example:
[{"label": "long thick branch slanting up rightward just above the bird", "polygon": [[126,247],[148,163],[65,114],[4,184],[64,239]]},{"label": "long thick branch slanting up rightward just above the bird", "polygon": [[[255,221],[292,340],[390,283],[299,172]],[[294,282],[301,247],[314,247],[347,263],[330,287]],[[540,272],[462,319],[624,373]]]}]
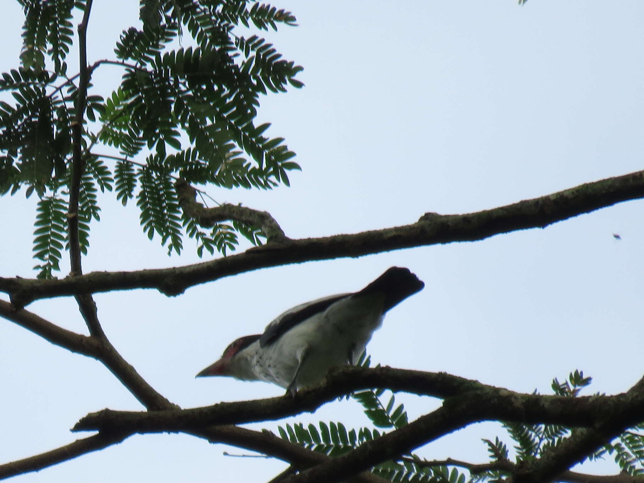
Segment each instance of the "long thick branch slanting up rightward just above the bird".
[{"label": "long thick branch slanting up rightward just above the bird", "polygon": [[158,289],[181,294],[188,287],[303,261],[357,257],[437,243],[473,242],[500,233],[546,227],[596,209],[644,197],[644,171],[608,178],[504,207],[469,214],[428,213],[411,225],[325,238],[267,243],[242,254],[184,267],[133,272],[93,272],[61,280],[0,278],[0,291],[24,307],[35,299],[110,290]]}]

